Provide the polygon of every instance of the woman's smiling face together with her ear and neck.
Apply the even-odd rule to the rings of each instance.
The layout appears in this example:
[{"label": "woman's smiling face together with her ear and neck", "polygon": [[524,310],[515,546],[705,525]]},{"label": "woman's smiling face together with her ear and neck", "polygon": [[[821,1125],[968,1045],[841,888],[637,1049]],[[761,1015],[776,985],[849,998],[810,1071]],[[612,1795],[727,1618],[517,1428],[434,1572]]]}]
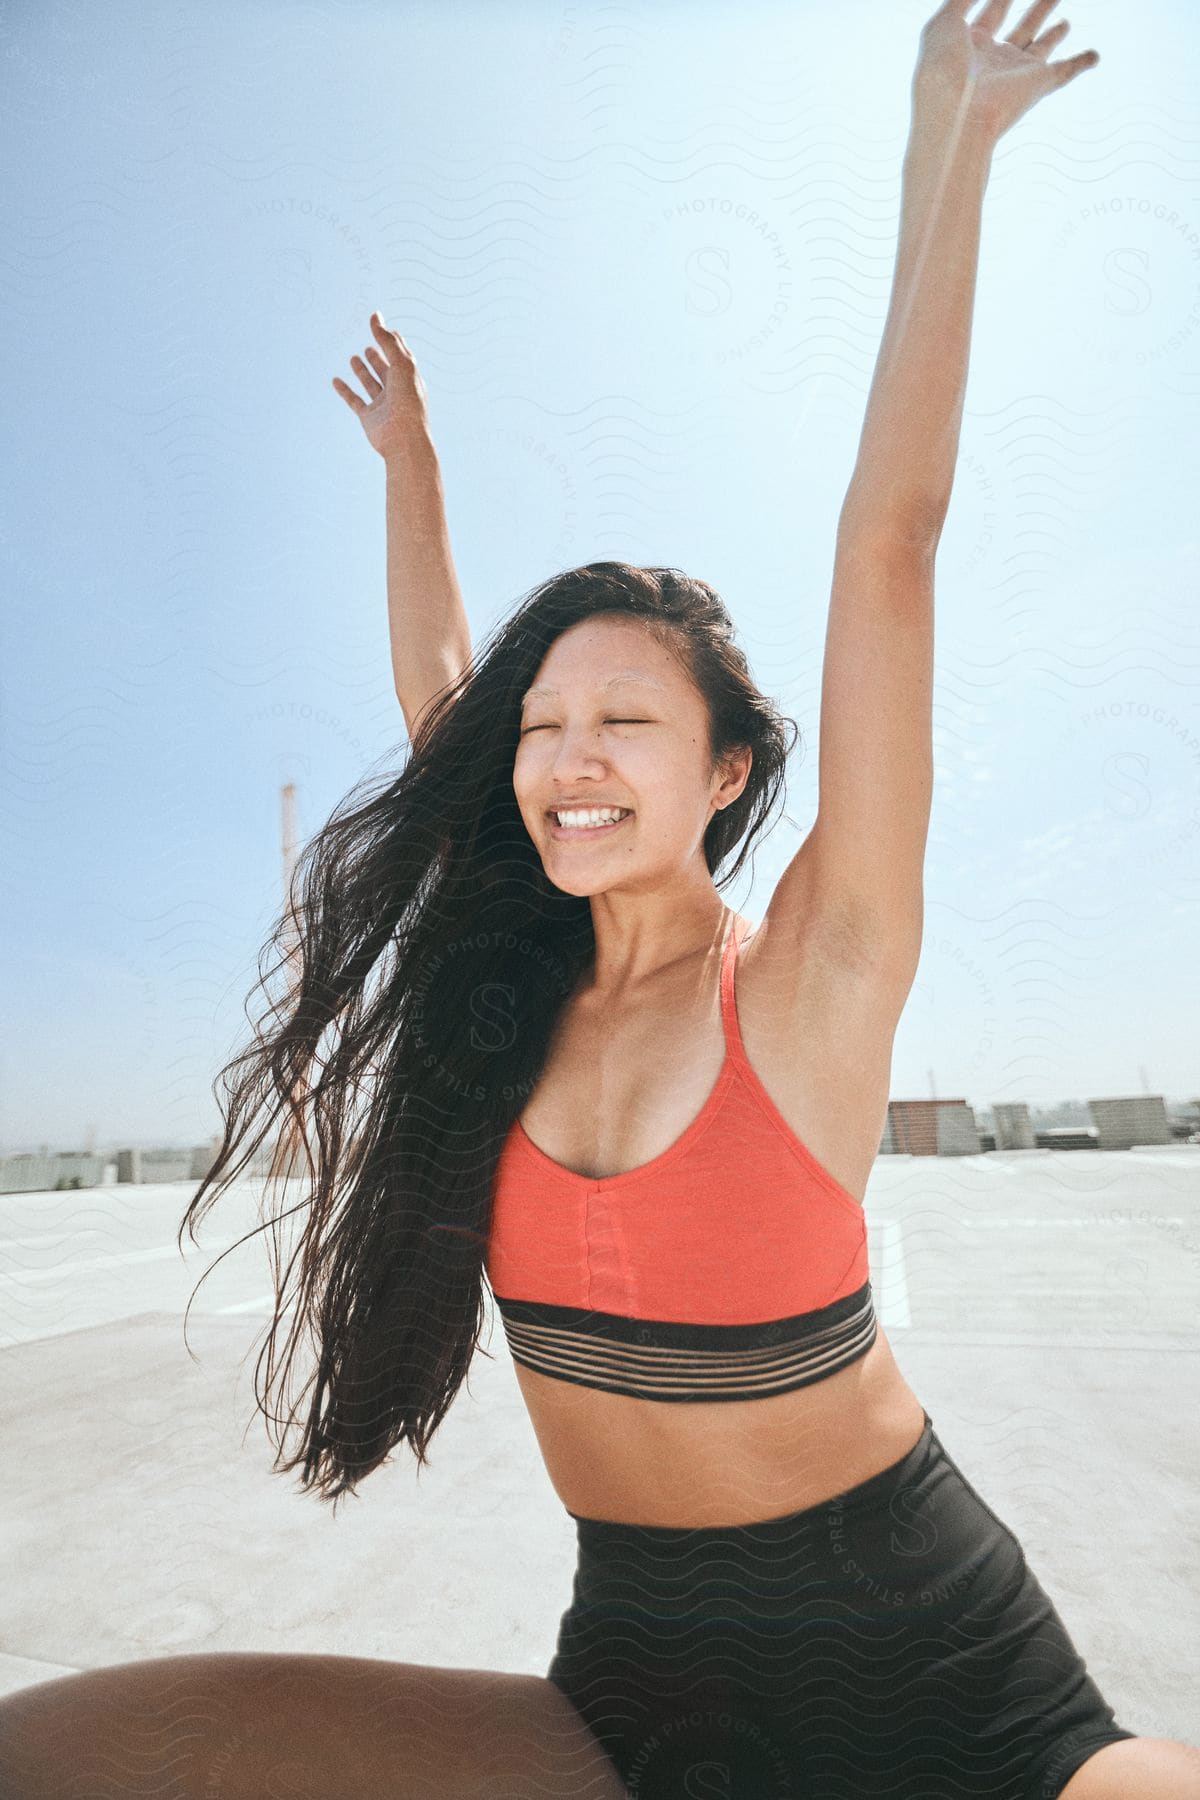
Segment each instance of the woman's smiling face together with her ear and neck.
[{"label": "woman's smiling face together with her ear and neck", "polygon": [[[712,769],[703,697],[639,621],[599,616],[551,644],[522,706],[513,790],[545,873],[587,895],[592,994],[635,986],[711,940],[725,911],[703,860],[750,751]],[[552,808],[628,806],[613,830],[556,832]]]}]

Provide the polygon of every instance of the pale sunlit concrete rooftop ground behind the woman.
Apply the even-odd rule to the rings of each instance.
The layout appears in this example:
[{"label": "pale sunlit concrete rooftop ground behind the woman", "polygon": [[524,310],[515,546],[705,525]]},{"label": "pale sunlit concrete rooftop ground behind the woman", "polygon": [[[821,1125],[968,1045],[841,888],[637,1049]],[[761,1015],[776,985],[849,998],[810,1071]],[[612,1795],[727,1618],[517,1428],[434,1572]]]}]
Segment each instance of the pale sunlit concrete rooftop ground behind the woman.
[{"label": "pale sunlit concrete rooftop ground behind the woman", "polygon": [[[0,1692],[191,1651],[543,1674],[574,1525],[498,1316],[416,1478],[329,1507],[272,1474],[257,1184],[175,1246],[194,1183],[0,1197]],[[883,1156],[876,1307],[1117,1721],[1200,1742],[1200,1147]]]}]

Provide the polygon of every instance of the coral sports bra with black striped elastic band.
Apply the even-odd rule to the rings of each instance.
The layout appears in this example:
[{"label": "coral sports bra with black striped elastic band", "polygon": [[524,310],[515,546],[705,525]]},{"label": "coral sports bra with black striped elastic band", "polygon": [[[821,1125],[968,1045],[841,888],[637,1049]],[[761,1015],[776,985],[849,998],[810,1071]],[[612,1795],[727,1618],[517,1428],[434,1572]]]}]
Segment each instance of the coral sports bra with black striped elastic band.
[{"label": "coral sports bra with black striped elastic band", "polygon": [[725,1062],[662,1156],[592,1181],[513,1121],[486,1269],[525,1368],[644,1400],[756,1400],[824,1381],[874,1343],[865,1213],[747,1060],[739,940],[734,922]]}]

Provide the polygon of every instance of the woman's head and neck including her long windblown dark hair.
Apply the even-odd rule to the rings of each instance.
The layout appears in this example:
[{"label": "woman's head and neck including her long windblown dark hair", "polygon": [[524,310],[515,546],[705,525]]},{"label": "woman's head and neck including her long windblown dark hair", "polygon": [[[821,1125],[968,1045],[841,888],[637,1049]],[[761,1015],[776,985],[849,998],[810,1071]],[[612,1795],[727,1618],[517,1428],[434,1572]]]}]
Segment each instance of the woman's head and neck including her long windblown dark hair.
[{"label": "woman's head and neck including her long windblown dark hair", "polygon": [[[613,706],[633,691],[637,725]],[[466,1375],[493,1172],[565,1003],[615,999],[662,967],[664,940],[687,967],[714,877],[736,877],[781,794],[788,727],[705,581],[590,563],[534,589],[423,707],[405,769],[351,794],[308,844],[185,1224],[299,1091],[313,1195],[259,1404],[284,1397],[313,1332],[315,1393],[282,1467],[302,1465],[335,1508],[398,1444],[425,1458]],[[552,817],[581,805],[626,815]],[[624,947],[597,932],[612,916],[633,927]],[[293,1408],[284,1435],[295,1424]]]}]

